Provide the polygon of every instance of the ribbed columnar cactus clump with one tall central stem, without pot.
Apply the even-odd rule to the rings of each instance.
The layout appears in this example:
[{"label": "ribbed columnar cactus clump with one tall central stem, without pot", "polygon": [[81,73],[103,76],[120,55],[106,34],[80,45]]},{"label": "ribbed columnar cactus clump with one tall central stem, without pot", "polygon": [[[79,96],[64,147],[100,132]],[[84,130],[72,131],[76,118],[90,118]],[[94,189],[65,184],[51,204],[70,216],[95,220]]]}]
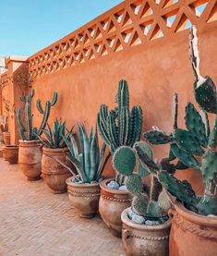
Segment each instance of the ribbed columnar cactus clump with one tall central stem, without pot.
[{"label": "ribbed columnar cactus clump with one tall central stem, without pot", "polygon": [[[140,106],[129,109],[129,92],[126,80],[119,81],[115,110],[101,105],[97,116],[97,125],[102,140],[110,147],[112,154],[120,146],[132,147],[139,140],[142,128],[142,110]],[[123,177],[116,175],[116,181],[123,183]]]}]

